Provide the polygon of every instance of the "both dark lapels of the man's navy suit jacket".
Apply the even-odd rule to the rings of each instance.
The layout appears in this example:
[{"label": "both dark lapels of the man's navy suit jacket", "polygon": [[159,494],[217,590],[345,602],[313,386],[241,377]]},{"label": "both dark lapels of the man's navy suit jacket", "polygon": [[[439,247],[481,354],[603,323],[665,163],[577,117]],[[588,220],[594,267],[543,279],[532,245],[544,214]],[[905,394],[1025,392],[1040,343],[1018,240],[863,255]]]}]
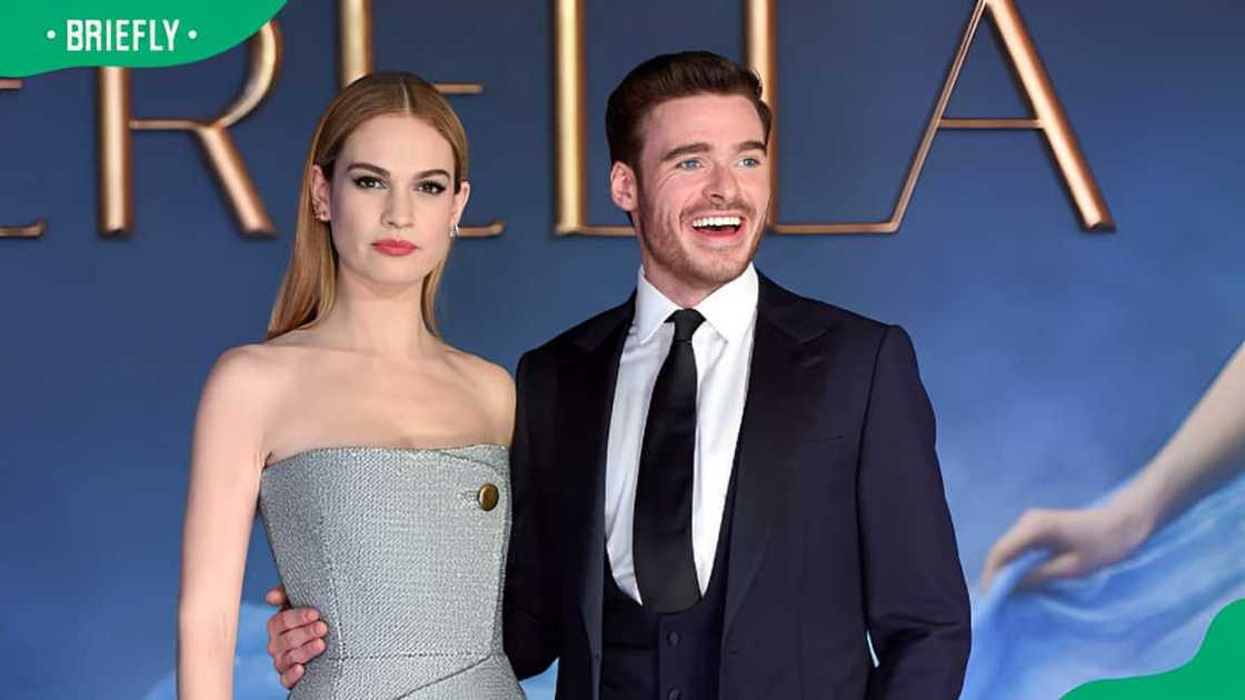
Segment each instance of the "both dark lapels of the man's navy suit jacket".
[{"label": "both dark lapels of the man's navy suit jacket", "polygon": [[[798,438],[802,419],[813,405],[818,382],[813,372],[828,359],[824,344],[817,343],[828,328],[802,314],[799,299],[759,275],[757,323],[748,374],[743,421],[736,448],[736,504],[730,539],[723,631],[740,609],[768,548],[772,526],[788,499],[794,465],[782,456]],[[605,560],[605,467],[610,416],[618,381],[619,360],[635,316],[635,296],[606,311],[576,339],[581,350],[566,369],[565,421],[563,440],[568,451],[566,483],[581,511],[568,522],[581,523],[578,543],[580,570],[571,572],[578,587],[579,609],[594,659],[601,653],[601,605]],[[776,457],[777,456],[777,457]],[[574,498],[575,494],[586,497]],[[723,634],[723,641],[727,635]],[[594,688],[598,665],[594,663]]]}]

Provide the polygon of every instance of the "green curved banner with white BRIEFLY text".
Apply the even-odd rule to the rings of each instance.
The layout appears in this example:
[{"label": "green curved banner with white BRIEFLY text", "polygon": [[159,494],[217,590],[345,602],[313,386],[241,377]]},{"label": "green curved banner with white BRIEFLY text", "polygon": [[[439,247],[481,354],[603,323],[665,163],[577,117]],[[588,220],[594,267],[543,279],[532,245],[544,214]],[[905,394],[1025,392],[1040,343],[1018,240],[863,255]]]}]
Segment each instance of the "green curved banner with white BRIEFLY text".
[{"label": "green curved banner with white BRIEFLY text", "polygon": [[259,31],[285,0],[7,0],[0,76],[202,61]]}]

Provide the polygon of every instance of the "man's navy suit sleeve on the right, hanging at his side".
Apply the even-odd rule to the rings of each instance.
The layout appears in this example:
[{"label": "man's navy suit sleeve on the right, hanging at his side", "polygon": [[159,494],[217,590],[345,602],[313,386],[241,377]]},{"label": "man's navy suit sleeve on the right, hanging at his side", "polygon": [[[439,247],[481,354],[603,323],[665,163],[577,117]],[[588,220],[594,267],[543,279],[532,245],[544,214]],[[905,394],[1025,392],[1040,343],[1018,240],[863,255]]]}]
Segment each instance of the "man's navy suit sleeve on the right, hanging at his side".
[{"label": "man's navy suit sleeve on the right, hanging at his side", "polygon": [[857,483],[870,700],[955,700],[970,614],[934,450],[934,410],[899,326],[878,350]]}]

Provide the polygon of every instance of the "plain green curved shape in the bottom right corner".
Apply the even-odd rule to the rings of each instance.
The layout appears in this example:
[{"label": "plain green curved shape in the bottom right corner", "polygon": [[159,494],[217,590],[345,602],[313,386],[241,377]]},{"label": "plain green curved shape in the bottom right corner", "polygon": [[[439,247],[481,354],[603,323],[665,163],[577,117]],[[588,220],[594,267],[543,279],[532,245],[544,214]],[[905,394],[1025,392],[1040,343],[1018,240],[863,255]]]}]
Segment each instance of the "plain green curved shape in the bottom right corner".
[{"label": "plain green curved shape in the bottom right corner", "polygon": [[1239,700],[1245,698],[1245,599],[1215,615],[1188,664],[1157,675],[1096,680],[1063,700]]}]

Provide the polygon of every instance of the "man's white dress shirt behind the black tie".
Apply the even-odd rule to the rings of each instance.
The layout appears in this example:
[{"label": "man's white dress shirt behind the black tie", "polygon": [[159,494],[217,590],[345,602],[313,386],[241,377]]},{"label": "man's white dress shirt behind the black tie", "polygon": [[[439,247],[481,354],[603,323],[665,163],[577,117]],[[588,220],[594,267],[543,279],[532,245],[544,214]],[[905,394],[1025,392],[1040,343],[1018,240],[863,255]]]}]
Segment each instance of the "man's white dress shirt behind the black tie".
[{"label": "man's white dress shirt behind the black tie", "polygon": [[[757,321],[757,272],[749,264],[743,274],[695,306],[705,316],[705,323],[692,335],[697,386],[692,552],[702,594],[708,589],[713,570],[726,491],[735,463],[735,445],[743,420]],[[649,284],[641,268],[635,319],[619,362],[605,465],[605,549],[619,589],[637,603],[642,600],[635,580],[631,526],[640,477],[640,447],[652,386],[675,338],[675,325],[667,324],[666,319],[679,309]]]}]

